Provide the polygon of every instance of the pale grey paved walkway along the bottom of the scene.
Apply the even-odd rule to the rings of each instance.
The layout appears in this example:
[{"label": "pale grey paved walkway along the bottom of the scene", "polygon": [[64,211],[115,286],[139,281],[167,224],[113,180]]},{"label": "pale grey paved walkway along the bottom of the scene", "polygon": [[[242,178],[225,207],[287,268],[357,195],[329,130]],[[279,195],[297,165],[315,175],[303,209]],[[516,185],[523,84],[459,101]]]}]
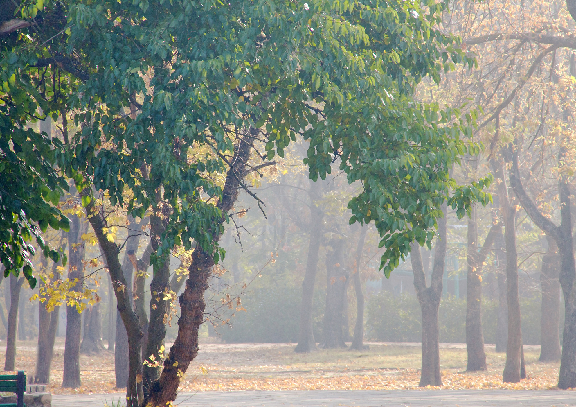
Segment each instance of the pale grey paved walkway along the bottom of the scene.
[{"label": "pale grey paved walkway along the bottom of the scene", "polygon": [[[53,395],[52,407],[112,407],[122,394]],[[309,390],[182,393],[180,407],[560,407],[576,391],[555,390]]]}]

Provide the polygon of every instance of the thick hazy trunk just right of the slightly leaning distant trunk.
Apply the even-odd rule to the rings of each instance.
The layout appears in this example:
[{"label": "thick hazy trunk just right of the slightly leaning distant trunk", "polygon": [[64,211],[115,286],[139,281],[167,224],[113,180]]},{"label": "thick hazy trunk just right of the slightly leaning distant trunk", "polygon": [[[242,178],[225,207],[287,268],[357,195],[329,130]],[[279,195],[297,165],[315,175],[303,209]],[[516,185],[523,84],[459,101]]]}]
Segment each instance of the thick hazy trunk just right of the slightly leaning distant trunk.
[{"label": "thick hazy trunk just right of the slightly leaning distant trunk", "polygon": [[324,341],[322,348],[346,348],[342,331],[344,294],[348,285],[348,273],[344,267],[344,240],[333,239],[326,255],[326,308],[324,309]]}]

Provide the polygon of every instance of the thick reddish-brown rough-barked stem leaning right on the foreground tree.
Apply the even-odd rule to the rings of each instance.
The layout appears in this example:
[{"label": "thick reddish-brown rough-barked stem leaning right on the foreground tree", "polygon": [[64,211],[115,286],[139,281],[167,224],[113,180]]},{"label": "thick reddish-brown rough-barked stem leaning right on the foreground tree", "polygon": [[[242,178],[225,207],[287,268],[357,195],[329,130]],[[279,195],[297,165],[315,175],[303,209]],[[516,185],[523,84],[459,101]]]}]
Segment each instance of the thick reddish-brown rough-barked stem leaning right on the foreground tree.
[{"label": "thick reddish-brown rough-barked stem leaning right on the foreground tree", "polygon": [[[247,168],[247,161],[257,135],[257,129],[250,129],[234,146],[234,157],[230,160],[230,168],[226,175],[222,190],[222,199],[217,206],[223,213],[228,213],[238,198],[238,188],[241,180],[253,171]],[[262,166],[269,165],[268,163]],[[255,169],[261,168],[256,167]],[[223,218],[214,219],[214,223],[222,224]],[[214,242],[221,238],[220,232],[212,231]],[[210,271],[214,266],[213,256],[202,248],[196,247],[192,253],[192,265],[188,268],[184,292],[179,297],[180,319],[178,320],[178,336],[168,357],[164,361],[164,370],[160,378],[150,388],[150,394],[143,403],[147,407],[164,407],[176,399],[176,391],[180,385],[180,377],[187,370],[192,359],[198,355],[198,329],[204,322],[204,291],[208,288]]]}]

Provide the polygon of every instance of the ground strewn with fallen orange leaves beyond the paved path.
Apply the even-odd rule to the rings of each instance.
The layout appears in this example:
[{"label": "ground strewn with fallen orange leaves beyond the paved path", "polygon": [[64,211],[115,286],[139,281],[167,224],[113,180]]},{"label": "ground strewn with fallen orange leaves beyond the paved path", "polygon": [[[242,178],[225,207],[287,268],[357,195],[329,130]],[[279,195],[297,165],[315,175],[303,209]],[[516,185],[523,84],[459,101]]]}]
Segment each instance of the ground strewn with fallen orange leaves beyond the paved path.
[{"label": "ground strewn with fallen orange leaves beyond the paved path", "polygon": [[[5,342],[4,342],[5,343]],[[0,341],[0,346],[3,342]],[[168,344],[169,346],[170,344]],[[207,390],[381,390],[418,389],[420,344],[369,343],[366,351],[326,350],[294,353],[295,344],[203,343],[182,381],[181,391]],[[28,378],[36,364],[35,342],[18,342],[16,368]],[[166,346],[168,348],[168,346]],[[486,345],[488,370],[466,373],[464,344],[442,344],[443,389],[551,389],[558,380],[559,363],[539,363],[540,346],[525,346],[528,378],[502,383],[505,353]],[[56,338],[52,361],[52,394],[118,393],[114,357],[81,355],[82,386],[63,389],[63,338]],[[0,352],[3,359],[4,351]]]}]

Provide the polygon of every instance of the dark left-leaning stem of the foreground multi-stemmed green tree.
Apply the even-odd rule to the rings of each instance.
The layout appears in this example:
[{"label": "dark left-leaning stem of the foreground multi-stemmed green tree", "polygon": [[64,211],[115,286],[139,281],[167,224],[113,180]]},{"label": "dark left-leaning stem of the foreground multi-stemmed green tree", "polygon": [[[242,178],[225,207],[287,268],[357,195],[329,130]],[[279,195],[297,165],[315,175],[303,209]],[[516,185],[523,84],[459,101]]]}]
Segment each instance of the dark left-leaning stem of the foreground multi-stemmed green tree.
[{"label": "dark left-leaning stem of the foreground multi-stemmed green tree", "polygon": [[132,286],[130,281],[124,276],[122,265],[120,265],[120,246],[108,240],[107,233],[104,232],[105,228],[107,228],[107,223],[103,214],[94,207],[93,201],[86,205],[86,214],[104,253],[106,266],[112,277],[114,293],[118,302],[116,308],[122,319],[124,331],[128,336],[129,370],[126,386],[126,406],[137,407],[144,399],[142,392],[142,329],[138,321],[138,315],[132,311],[132,302],[134,300],[131,292]]}]

